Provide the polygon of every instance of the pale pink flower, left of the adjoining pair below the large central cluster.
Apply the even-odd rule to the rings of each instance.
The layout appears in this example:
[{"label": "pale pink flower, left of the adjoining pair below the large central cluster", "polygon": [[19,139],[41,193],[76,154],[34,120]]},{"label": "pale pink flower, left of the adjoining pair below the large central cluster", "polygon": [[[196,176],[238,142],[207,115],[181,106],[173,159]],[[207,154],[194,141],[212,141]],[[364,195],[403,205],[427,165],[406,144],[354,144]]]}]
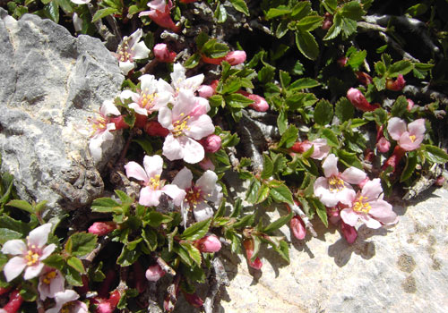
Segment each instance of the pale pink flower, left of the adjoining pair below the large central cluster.
[{"label": "pale pink flower, left of the adjoining pair below the large central cluster", "polygon": [[165,193],[173,199],[176,206],[180,206],[182,200],[185,198],[185,191],[180,190],[176,185],[165,185],[164,180],[160,180],[160,174],[162,173],[163,159],[160,156],[143,158],[143,166],[129,162],[125,165],[126,176],[133,177],[139,181],[142,181],[144,186],[140,190],[139,203],[142,206],[151,207],[159,205],[159,198],[162,193]]}]

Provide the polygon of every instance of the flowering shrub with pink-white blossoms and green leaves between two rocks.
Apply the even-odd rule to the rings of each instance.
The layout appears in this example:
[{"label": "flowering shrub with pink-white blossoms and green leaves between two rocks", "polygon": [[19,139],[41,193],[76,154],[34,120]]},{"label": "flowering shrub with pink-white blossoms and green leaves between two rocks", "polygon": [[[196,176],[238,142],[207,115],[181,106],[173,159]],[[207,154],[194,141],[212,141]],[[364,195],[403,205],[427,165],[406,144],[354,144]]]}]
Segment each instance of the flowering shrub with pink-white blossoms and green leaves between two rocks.
[{"label": "flowering shrub with pink-white blossoms and green leaves between two rocks", "polygon": [[[47,313],[172,311],[181,294],[211,312],[216,292],[196,287],[226,284],[221,250],[259,271],[261,247],[289,262],[291,241],[317,236],[314,224],[356,244],[361,224],[397,223],[392,186],[409,199],[422,179],[444,181],[438,4],[403,7],[431,30],[421,35],[430,53],[413,55],[421,47],[405,51],[392,36],[400,27],[378,18],[374,1],[18,3],[7,5],[16,18],[30,11],[108,42],[125,82],[86,121],[90,155],[99,162],[115,136],[126,145],[108,170],[120,182],[85,208],[88,225],[15,199],[13,177],[2,175],[6,312],[23,302]],[[235,197],[237,185],[246,190]],[[266,207],[280,217],[266,223]]]}]

